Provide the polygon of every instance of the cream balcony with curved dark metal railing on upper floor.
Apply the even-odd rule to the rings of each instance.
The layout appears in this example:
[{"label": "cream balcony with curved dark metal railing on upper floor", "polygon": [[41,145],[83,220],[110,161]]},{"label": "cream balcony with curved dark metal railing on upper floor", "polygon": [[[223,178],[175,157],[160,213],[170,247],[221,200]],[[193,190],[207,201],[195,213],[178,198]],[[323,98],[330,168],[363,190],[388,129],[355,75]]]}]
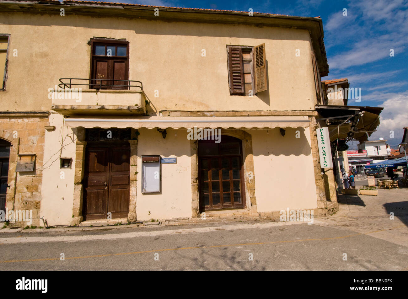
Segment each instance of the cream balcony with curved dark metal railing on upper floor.
[{"label": "cream balcony with curved dark metal railing on upper floor", "polygon": [[48,90],[51,107],[62,115],[144,115],[143,84],[133,80],[61,78]]}]

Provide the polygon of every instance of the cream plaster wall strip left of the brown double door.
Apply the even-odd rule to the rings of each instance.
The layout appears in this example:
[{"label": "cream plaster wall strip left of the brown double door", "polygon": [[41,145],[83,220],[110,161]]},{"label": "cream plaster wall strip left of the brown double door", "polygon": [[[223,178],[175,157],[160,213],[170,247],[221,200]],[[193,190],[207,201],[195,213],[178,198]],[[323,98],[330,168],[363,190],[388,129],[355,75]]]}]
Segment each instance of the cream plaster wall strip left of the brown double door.
[{"label": "cream plaster wall strip left of the brown double door", "polygon": [[[47,219],[48,225],[67,225],[72,219],[76,135],[62,126],[62,115],[52,113],[49,122],[55,131],[45,133],[44,163],[49,162],[42,172],[40,217]],[[71,168],[60,168],[60,153],[62,158],[73,159]]]}]

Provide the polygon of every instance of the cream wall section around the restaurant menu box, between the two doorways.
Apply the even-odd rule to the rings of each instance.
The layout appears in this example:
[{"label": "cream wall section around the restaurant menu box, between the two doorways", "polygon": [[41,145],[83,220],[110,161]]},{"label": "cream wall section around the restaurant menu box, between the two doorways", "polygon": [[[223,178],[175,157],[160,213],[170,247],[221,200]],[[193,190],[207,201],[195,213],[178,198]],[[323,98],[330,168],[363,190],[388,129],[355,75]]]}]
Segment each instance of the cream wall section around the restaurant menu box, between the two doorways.
[{"label": "cream wall section around the restaurant menu box, between the two doorways", "polygon": [[[140,129],[137,142],[137,220],[191,217],[191,157],[187,131]],[[177,134],[177,136],[175,136]],[[142,155],[177,157],[177,164],[162,164],[160,193],[142,193]],[[150,211],[150,215],[149,215]]]}]

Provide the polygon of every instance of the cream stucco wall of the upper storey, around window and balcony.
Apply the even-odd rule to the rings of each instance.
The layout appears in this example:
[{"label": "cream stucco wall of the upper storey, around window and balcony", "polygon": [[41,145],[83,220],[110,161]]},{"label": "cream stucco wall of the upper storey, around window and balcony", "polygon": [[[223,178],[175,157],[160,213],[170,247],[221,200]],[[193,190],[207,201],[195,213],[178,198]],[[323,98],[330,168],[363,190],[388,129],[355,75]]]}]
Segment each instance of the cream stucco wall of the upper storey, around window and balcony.
[{"label": "cream stucco wall of the upper storey, around window and balcony", "polygon": [[[304,29],[0,13],[0,33],[11,34],[6,91],[0,92],[2,110],[48,111],[47,90],[60,78],[89,78],[87,43],[93,37],[130,42],[129,80],[143,82],[156,113],[313,110],[316,102],[311,40]],[[268,91],[252,98],[231,96],[226,45],[262,43]],[[300,56],[295,55],[297,49]],[[112,96],[112,101],[120,104],[117,98]]]}]

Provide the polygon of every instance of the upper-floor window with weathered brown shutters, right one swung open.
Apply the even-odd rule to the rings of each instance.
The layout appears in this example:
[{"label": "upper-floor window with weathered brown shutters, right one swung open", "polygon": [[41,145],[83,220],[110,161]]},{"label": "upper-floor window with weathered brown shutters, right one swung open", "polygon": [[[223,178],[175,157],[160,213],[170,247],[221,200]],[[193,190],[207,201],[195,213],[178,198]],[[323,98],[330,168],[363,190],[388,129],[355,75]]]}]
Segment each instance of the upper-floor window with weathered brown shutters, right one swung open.
[{"label": "upper-floor window with weathered brown shutters, right one swung open", "polygon": [[254,95],[268,89],[265,44],[227,46],[227,57],[231,95]]}]

